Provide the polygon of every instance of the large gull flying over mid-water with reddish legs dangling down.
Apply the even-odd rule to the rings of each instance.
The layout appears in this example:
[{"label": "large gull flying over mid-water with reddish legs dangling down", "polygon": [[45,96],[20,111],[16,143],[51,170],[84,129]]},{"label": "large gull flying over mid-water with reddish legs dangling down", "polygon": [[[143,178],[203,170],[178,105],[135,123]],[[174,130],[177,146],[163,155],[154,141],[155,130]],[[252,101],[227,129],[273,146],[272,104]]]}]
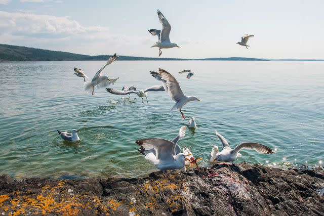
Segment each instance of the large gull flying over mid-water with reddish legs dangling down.
[{"label": "large gull flying over mid-water with reddish legs dangling down", "polygon": [[174,102],[176,102],[176,104],[171,108],[170,111],[179,109],[182,118],[185,119],[181,108],[189,101],[200,100],[195,96],[184,95],[176,78],[174,78],[174,76],[172,76],[169,72],[165,71],[164,69],[159,68],[158,72],[150,71],[150,73],[155,79],[163,82],[163,86],[168,91],[169,96]]}]

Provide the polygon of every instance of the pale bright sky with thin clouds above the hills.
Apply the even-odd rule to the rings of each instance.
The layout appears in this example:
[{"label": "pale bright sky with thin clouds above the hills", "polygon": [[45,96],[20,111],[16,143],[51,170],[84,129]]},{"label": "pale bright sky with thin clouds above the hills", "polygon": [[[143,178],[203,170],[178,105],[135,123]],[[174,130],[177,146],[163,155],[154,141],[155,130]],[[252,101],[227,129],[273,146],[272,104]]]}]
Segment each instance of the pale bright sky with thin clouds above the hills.
[{"label": "pale bright sky with thin clouds above the hills", "polygon": [[[164,3],[164,4],[161,4]],[[170,58],[324,59],[324,1],[0,0],[0,44],[157,57],[148,29],[172,26]],[[254,34],[251,49],[236,44]]]}]

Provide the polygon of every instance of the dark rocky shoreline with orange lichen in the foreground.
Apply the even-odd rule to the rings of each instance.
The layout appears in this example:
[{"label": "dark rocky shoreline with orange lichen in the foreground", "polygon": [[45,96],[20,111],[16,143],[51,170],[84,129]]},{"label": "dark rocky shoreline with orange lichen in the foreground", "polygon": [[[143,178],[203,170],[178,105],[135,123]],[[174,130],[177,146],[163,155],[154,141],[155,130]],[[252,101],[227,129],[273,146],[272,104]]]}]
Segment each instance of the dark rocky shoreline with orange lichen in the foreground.
[{"label": "dark rocky shoreline with orange lichen in the foreground", "polygon": [[0,215],[323,215],[324,169],[248,163],[142,179],[14,181],[0,177]]}]

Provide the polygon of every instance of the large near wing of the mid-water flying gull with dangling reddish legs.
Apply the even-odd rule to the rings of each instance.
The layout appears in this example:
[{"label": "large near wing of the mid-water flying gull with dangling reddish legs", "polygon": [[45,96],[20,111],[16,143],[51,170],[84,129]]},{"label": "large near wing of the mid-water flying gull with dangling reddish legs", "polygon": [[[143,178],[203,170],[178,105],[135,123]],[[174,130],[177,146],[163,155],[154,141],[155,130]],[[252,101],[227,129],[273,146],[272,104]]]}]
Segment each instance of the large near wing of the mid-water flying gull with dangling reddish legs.
[{"label": "large near wing of the mid-water flying gull with dangling reddish legs", "polygon": [[170,95],[172,100],[174,100],[177,103],[183,97],[185,97],[178,81],[173,75],[160,68],[158,69],[158,71],[160,73],[161,80],[166,83],[166,90],[168,90],[168,94]]}]

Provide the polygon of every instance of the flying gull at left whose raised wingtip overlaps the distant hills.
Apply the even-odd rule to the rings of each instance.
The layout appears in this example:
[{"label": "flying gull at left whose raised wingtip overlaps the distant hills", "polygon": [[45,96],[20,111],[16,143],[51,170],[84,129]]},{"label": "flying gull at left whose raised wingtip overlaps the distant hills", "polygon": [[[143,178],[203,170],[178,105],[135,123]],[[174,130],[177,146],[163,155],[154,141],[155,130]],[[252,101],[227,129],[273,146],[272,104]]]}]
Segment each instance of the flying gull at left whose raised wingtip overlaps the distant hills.
[{"label": "flying gull at left whose raised wingtip overlaps the distant hills", "polygon": [[103,87],[107,87],[110,84],[114,84],[116,82],[118,78],[113,79],[113,78],[108,78],[106,75],[101,75],[103,69],[105,69],[105,67],[109,64],[111,64],[113,61],[115,61],[119,56],[113,55],[112,57],[110,57],[107,61],[107,63],[105,64],[105,66],[103,66],[100,70],[98,70],[98,72],[94,75],[94,77],[92,78],[91,82],[88,82],[85,84],[85,90],[86,91],[90,91],[92,89],[92,95],[94,95],[94,87],[97,85],[98,88],[103,88]]}]

